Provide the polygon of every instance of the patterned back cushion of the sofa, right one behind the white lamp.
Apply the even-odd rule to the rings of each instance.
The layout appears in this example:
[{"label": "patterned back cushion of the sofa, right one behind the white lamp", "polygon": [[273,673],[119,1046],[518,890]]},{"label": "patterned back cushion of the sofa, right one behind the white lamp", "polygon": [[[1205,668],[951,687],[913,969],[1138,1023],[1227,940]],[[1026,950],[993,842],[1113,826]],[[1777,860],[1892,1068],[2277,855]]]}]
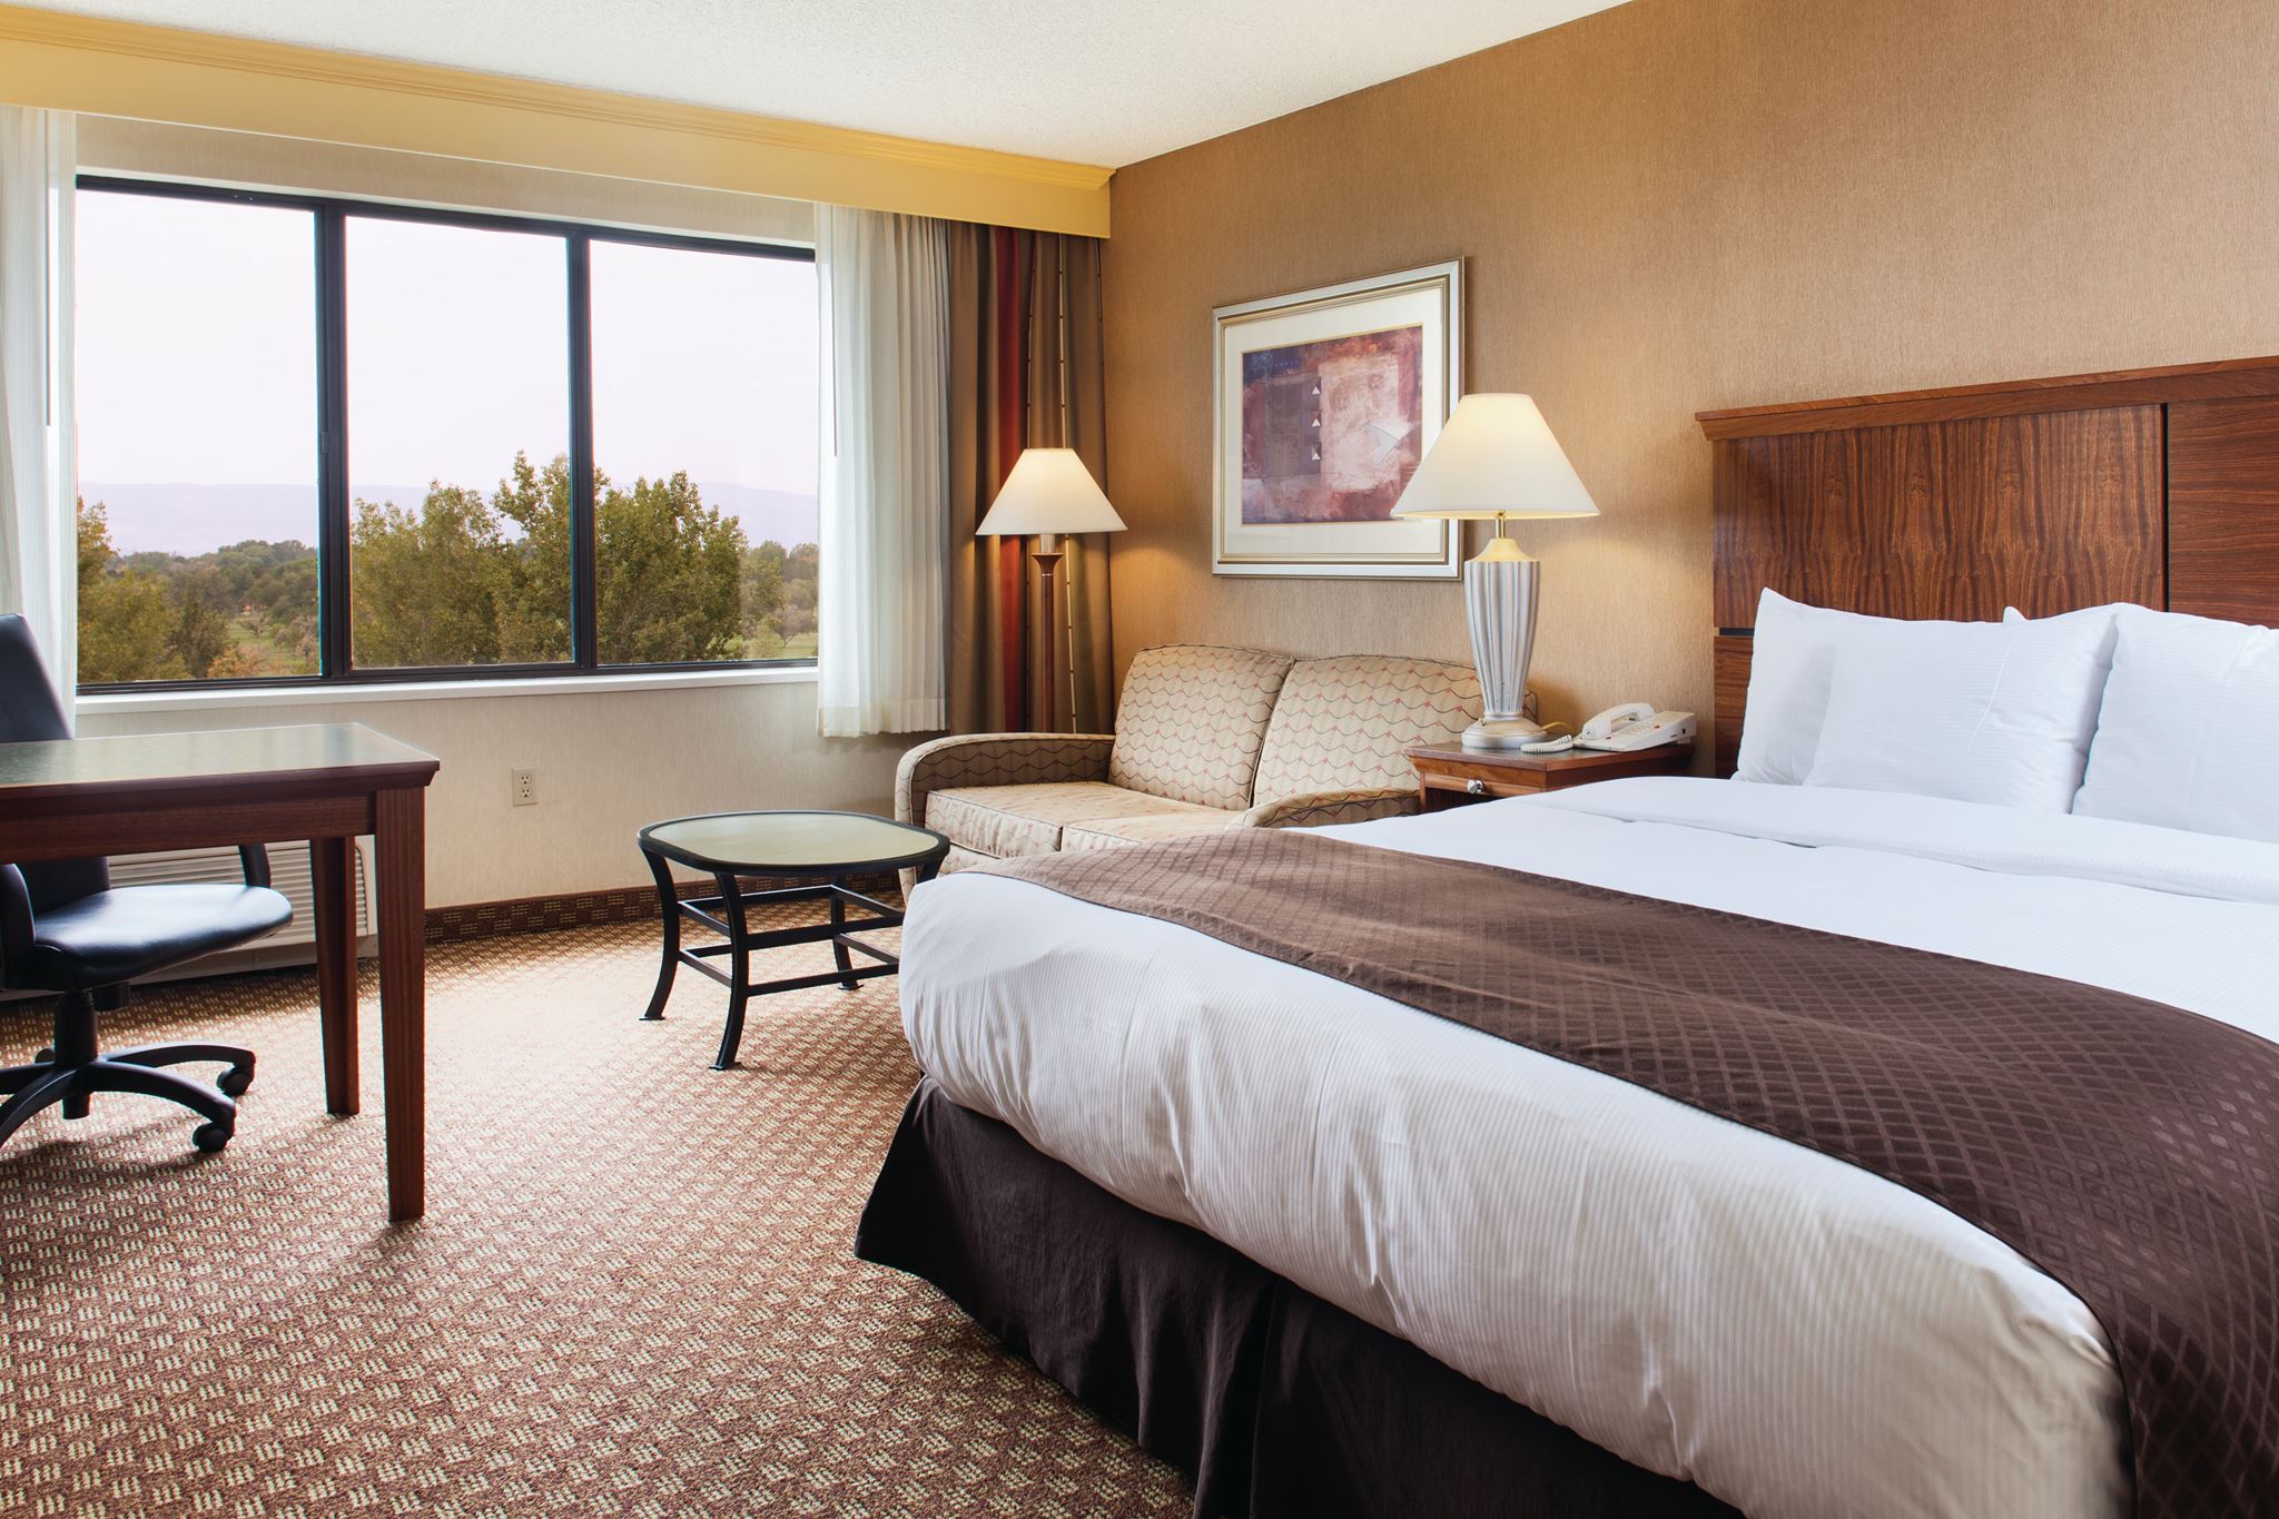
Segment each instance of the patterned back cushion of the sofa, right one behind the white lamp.
[{"label": "patterned back cushion of the sofa, right one behind the white lamp", "polygon": [[1258,756],[1260,802],[1315,790],[1408,786],[1402,749],[1452,745],[1479,717],[1470,665],[1342,654],[1299,660],[1283,681]]}]

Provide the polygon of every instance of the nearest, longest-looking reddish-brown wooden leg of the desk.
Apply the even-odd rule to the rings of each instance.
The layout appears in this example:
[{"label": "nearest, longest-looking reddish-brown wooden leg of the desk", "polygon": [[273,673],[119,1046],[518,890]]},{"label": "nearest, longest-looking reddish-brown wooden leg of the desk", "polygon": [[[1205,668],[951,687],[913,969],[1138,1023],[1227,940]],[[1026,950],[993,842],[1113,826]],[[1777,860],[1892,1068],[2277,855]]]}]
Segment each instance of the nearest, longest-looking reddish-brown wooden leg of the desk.
[{"label": "nearest, longest-looking reddish-brown wooden leg of the desk", "polygon": [[387,1218],[426,1212],[426,793],[371,797],[378,854],[381,1091],[387,1102]]}]

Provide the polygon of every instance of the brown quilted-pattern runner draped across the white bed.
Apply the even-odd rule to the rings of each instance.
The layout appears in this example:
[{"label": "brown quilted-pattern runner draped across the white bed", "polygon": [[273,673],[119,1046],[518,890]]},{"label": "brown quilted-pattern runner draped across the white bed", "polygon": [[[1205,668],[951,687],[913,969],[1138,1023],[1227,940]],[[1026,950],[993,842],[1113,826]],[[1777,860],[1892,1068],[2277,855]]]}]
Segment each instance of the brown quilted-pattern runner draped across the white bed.
[{"label": "brown quilted-pattern runner draped across the white bed", "polygon": [[2138,1514],[2279,1514],[2279,1045],[2024,970],[1276,829],[987,870],[1898,1182],[2104,1323]]}]

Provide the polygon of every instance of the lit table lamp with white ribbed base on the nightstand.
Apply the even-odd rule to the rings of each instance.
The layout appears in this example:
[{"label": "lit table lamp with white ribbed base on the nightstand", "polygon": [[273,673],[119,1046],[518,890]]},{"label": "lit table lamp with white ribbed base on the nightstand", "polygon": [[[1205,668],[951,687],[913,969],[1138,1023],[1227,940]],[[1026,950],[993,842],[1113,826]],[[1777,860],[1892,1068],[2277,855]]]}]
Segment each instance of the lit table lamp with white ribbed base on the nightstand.
[{"label": "lit table lamp with white ribbed base on the nightstand", "polygon": [[1472,626],[1481,720],[1465,749],[1518,749],[1543,738],[1520,706],[1536,651],[1536,588],[1543,565],[1504,537],[1509,517],[1598,517],[1566,451],[1531,396],[1465,396],[1424,451],[1395,517],[1484,517],[1495,537],[1463,565],[1463,610]]}]

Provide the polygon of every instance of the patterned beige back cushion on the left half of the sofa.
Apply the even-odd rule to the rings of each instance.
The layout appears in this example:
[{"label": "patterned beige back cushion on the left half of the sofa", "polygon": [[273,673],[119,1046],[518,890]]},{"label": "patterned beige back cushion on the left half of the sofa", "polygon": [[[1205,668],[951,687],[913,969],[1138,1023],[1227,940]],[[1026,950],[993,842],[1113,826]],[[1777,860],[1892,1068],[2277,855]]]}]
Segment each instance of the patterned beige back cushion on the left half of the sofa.
[{"label": "patterned beige back cushion on the left half of the sofa", "polygon": [[1290,658],[1265,649],[1142,649],[1124,672],[1108,779],[1194,806],[1249,806],[1288,672]]}]

